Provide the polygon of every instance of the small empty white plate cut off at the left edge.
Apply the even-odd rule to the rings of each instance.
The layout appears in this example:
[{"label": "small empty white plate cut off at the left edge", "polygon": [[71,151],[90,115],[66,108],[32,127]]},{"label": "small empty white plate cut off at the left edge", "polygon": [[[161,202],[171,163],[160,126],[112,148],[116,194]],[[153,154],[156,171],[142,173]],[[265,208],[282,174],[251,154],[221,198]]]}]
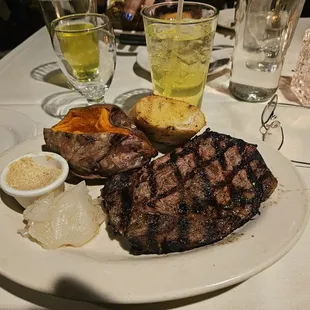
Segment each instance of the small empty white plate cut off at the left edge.
[{"label": "small empty white plate cut off at the left edge", "polygon": [[36,133],[36,124],[30,117],[17,111],[0,109],[0,153]]}]

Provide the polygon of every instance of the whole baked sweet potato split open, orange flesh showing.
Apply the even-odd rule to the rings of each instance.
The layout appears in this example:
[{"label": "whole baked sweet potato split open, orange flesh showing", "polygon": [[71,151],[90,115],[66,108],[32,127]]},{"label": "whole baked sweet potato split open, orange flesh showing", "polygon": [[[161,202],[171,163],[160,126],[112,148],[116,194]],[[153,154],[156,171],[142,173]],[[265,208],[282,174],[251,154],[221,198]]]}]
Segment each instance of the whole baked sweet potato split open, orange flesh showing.
[{"label": "whole baked sweet potato split open, orange flesh showing", "polygon": [[87,179],[138,168],[157,155],[144,133],[112,104],[71,109],[58,124],[44,128],[44,140],[74,174]]}]

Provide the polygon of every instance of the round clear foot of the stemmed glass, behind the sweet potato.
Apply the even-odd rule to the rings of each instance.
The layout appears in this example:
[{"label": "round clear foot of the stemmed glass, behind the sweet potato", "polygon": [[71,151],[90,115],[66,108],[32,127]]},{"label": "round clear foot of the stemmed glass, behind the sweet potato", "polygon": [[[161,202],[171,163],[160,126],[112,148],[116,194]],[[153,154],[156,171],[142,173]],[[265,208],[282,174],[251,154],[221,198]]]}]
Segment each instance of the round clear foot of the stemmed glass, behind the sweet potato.
[{"label": "round clear foot of the stemmed glass, behind the sweet potato", "polygon": [[88,101],[77,91],[61,92],[44,99],[43,110],[54,117],[63,118],[70,109],[88,106]]}]

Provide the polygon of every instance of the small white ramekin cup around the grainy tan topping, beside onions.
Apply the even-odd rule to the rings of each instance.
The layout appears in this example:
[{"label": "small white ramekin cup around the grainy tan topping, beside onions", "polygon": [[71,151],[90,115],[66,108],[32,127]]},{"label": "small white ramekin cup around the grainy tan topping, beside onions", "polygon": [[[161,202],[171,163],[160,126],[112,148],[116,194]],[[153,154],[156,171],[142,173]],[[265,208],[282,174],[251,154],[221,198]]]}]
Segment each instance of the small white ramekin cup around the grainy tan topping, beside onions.
[{"label": "small white ramekin cup around the grainy tan topping, beside onions", "polygon": [[[61,175],[51,184],[41,187],[39,189],[34,190],[18,190],[11,186],[9,186],[6,182],[6,176],[9,171],[9,166],[22,158],[31,157],[33,161],[37,164],[54,167],[62,170]],[[47,195],[51,192],[55,192],[55,194],[60,194],[65,189],[65,180],[69,173],[69,165],[67,161],[58,154],[51,152],[37,152],[37,153],[29,153],[14,159],[10,162],[1,172],[0,174],[0,187],[1,189],[8,195],[14,197],[17,202],[24,208],[27,208],[30,204],[32,204],[36,199]],[[31,180],[29,180],[31,181]]]}]

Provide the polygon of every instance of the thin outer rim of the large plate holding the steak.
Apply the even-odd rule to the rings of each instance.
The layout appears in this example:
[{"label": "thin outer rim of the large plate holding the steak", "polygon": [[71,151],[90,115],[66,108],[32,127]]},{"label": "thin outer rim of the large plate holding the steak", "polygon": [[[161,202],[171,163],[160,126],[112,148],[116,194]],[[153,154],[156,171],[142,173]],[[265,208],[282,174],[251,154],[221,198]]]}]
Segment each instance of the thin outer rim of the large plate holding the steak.
[{"label": "thin outer rim of the large plate holding the steak", "polygon": [[[213,128],[212,130],[217,130],[217,129]],[[232,135],[235,135],[235,133],[240,132],[239,130],[235,130],[233,128],[230,128],[230,130],[232,131]],[[224,132],[224,133],[227,134],[226,132]],[[251,136],[251,135],[242,133],[242,136],[240,138],[245,139],[244,137],[246,137],[246,138],[251,137],[252,139],[254,139],[255,141],[258,142],[258,146],[259,146],[259,144],[264,143],[264,142],[260,141],[258,138],[256,138],[255,136]],[[42,134],[35,136],[35,137],[32,137],[31,139],[24,141],[21,144],[14,146],[13,148],[21,147],[22,144],[27,144],[27,143],[30,143],[31,141],[34,141],[34,140],[40,140],[41,139],[41,141],[43,141],[42,138],[43,138]],[[252,143],[252,141],[251,141],[251,143]],[[268,149],[275,151],[271,146],[267,145],[266,143],[264,143],[264,145]],[[1,153],[0,154],[0,160],[2,159],[3,156],[7,155],[7,153],[11,152],[13,148],[10,148],[10,149],[6,150],[5,152]],[[293,171],[296,173],[296,176],[298,177],[298,180],[300,181],[301,185],[306,187],[307,185],[306,185],[304,179],[302,178],[302,175],[296,169],[296,167],[283,154],[281,154],[279,152],[278,155],[281,156],[285,161],[287,161],[293,167]],[[209,293],[209,292],[212,292],[215,290],[219,290],[219,289],[229,287],[229,286],[232,286],[234,284],[243,282],[243,281],[251,278],[252,276],[254,276],[256,274],[259,274],[260,272],[262,272],[263,270],[272,266],[273,264],[275,264],[277,261],[279,261],[283,256],[285,256],[294,247],[294,245],[298,242],[300,237],[303,235],[303,233],[307,227],[307,224],[308,224],[308,220],[309,220],[309,216],[310,216],[309,194],[308,193],[305,194],[305,205],[304,205],[304,207],[305,207],[305,214],[304,214],[305,216],[303,218],[302,225],[300,225],[298,227],[297,233],[295,233],[294,237],[290,239],[290,241],[286,244],[285,247],[282,247],[276,253],[276,255],[272,256],[271,258],[269,258],[267,260],[264,260],[263,263],[259,264],[259,267],[252,268],[246,272],[243,272],[241,275],[235,276],[234,278],[216,283],[216,284],[212,285],[211,287],[201,286],[201,287],[193,287],[191,289],[185,289],[185,290],[180,290],[180,289],[174,288],[173,290],[167,292],[167,294],[164,298],[155,292],[155,294],[149,295],[147,298],[145,298],[145,296],[142,296],[142,295],[135,296],[135,297],[122,296],[121,298],[118,298],[118,297],[114,298],[113,297],[111,299],[107,299],[107,301],[108,302],[116,302],[116,303],[119,303],[119,302],[120,303],[124,303],[124,302],[126,302],[126,303],[161,302],[161,301],[187,298],[187,297],[196,296],[196,295],[200,295],[200,294],[206,294],[206,293]],[[1,266],[0,266],[0,271],[1,271],[2,275],[4,275],[8,279],[10,279],[16,283],[22,284],[26,287],[30,287],[30,288],[38,290],[38,291],[43,291],[43,292],[47,292],[49,294],[53,294],[48,290],[40,289],[39,284],[33,284],[32,282],[31,282],[31,284],[29,284],[29,282],[27,282],[24,279],[18,279],[18,277],[11,276]],[[50,283],[50,285],[52,285],[52,283]],[[101,290],[100,292],[104,293],[103,290]]]}]

